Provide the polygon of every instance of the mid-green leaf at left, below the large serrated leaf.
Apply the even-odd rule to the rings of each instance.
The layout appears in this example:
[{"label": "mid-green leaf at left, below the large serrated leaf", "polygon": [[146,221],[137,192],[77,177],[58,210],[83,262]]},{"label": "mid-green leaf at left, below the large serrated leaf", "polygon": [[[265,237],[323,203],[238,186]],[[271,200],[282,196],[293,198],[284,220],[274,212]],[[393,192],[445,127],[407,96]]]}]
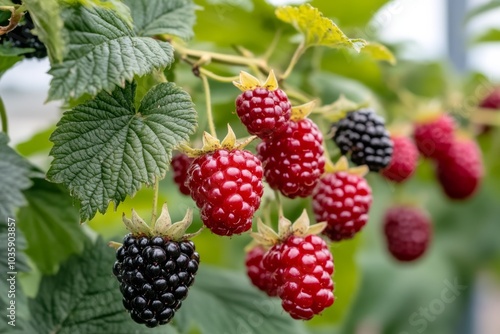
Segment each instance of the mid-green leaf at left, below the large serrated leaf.
[{"label": "mid-green leaf at left, below the large serrated leaf", "polygon": [[34,179],[24,196],[28,205],[19,210],[18,221],[28,242],[26,254],[40,272],[53,274],[59,263],[83,250],[78,210],[67,191],[44,179]]}]

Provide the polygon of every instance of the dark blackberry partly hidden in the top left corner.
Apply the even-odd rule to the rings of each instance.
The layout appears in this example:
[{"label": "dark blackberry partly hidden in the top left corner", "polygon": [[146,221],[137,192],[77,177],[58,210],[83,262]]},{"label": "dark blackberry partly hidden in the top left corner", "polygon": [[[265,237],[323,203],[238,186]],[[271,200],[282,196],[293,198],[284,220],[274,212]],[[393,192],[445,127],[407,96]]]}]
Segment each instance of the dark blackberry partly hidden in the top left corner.
[{"label": "dark blackberry partly hidden in the top left corner", "polygon": [[[14,1],[14,3],[20,4],[20,1]],[[2,22],[2,25],[6,22]],[[17,27],[9,31],[5,35],[0,35],[0,44],[10,43],[13,47],[21,49],[34,49],[32,52],[23,54],[26,58],[45,58],[47,56],[47,48],[38,39],[38,36],[32,33],[35,28],[33,19],[30,14],[26,12],[24,14],[24,20],[21,21]]]}]

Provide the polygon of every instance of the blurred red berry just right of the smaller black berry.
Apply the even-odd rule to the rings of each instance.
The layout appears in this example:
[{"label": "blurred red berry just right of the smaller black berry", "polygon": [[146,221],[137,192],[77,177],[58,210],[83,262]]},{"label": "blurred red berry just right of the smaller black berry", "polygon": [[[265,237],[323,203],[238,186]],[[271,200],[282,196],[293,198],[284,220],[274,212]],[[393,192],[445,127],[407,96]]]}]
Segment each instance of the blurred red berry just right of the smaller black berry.
[{"label": "blurred red berry just right of the smaller black berry", "polygon": [[403,182],[413,175],[417,168],[418,150],[408,137],[392,136],[394,153],[391,163],[384,168],[381,174],[388,180]]}]

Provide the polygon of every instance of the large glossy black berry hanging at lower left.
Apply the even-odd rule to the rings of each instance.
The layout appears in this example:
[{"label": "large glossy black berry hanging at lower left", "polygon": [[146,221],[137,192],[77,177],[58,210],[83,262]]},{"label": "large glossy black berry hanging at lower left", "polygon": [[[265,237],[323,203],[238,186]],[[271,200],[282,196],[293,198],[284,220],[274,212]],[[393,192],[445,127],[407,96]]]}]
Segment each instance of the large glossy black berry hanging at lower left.
[{"label": "large glossy black berry hanging at lower left", "polygon": [[192,241],[128,234],[116,251],[113,274],[131,318],[148,327],[170,322],[198,271]]}]

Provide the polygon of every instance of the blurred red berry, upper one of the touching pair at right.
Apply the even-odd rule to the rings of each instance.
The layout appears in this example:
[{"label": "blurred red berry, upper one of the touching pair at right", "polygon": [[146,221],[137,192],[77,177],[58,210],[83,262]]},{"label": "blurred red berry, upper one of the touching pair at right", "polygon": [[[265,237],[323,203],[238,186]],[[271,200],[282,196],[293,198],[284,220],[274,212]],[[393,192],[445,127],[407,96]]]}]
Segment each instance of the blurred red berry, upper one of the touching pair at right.
[{"label": "blurred red berry, upper one of the touching pair at right", "polygon": [[439,159],[449,150],[454,132],[455,121],[451,116],[442,114],[415,125],[415,144],[424,157]]}]

